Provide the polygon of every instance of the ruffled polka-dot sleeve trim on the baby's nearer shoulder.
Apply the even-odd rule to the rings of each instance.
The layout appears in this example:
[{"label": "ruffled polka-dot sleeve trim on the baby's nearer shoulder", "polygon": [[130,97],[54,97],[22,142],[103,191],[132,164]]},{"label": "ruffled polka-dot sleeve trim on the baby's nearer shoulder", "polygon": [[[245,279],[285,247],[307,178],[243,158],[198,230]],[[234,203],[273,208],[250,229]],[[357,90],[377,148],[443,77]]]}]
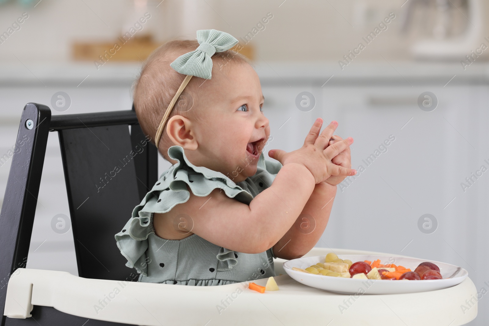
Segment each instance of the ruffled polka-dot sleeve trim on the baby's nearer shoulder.
[{"label": "ruffled polka-dot sleeve trim on the baby's nearer shoulder", "polygon": [[[168,155],[178,163],[160,176],[153,189],[134,208],[131,219],[122,231],[115,235],[117,246],[127,259],[126,266],[135,268],[143,276],[147,276],[147,239],[151,233],[155,233],[153,213],[166,213],[175,205],[186,202],[190,198],[187,185],[195,196],[207,196],[216,188],[222,189],[226,196],[245,204],[249,204],[255,196],[247,189],[246,183],[243,184],[245,188],[242,188],[220,172],[193,165],[180,146],[170,147]],[[271,171],[275,171],[273,167]],[[267,181],[271,183],[269,179]],[[222,248],[216,256],[225,264],[221,270],[231,269],[237,263],[235,257],[234,251]]]}]

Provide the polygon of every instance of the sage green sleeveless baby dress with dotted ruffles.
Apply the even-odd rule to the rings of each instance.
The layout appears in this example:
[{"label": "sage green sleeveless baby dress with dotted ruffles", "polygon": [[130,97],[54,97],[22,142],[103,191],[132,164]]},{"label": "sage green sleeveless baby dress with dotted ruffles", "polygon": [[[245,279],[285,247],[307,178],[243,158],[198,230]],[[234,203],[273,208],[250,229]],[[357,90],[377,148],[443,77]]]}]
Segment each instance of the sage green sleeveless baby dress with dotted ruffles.
[{"label": "sage green sleeveless baby dress with dotted ruffles", "polygon": [[[216,188],[230,198],[249,205],[267,189],[282,165],[267,161],[262,153],[257,172],[234,183],[226,176],[205,167],[197,167],[185,157],[183,148],[172,146],[168,155],[178,163],[171,166],[153,189],[133,210],[131,219],[115,235],[126,266],[135,268],[139,282],[222,285],[275,276],[272,248],[260,254],[244,254],[217,246],[193,234],[181,240],[162,239],[155,234],[153,213],[166,213],[190,198],[187,185],[195,196],[207,196]],[[182,223],[192,223],[188,216]]]}]

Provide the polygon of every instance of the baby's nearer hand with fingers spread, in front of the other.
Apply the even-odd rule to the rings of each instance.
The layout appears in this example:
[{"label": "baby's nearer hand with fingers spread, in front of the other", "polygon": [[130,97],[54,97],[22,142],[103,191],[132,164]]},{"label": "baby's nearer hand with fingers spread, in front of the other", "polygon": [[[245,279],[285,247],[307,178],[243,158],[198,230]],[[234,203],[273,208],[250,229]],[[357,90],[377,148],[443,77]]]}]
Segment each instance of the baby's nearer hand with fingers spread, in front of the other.
[{"label": "baby's nearer hand with fingers spread, in front of the other", "polygon": [[270,150],[268,156],[276,159],[282,165],[287,163],[298,163],[304,165],[314,176],[314,180],[320,183],[332,175],[355,175],[356,170],[348,169],[332,162],[333,158],[343,152],[351,144],[353,138],[336,141],[329,145],[334,130],[338,126],[336,121],[332,121],[321,134],[323,120],[317,118],[309,131],[304,145],[295,151],[285,152],[283,150]]}]

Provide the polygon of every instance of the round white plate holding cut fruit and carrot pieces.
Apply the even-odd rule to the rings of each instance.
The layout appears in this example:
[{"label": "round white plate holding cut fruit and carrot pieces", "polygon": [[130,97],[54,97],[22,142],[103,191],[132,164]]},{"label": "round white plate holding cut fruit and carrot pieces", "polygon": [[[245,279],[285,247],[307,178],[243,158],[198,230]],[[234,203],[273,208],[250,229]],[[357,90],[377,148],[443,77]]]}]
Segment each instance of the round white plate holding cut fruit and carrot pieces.
[{"label": "round white plate holding cut fruit and carrot pieces", "polygon": [[[342,277],[324,276],[308,274],[292,270],[292,267],[305,269],[317,262],[323,262],[326,256],[314,256],[297,258],[284,262],[284,269],[295,281],[315,287],[343,294],[399,294],[440,290],[453,285],[457,285],[465,280],[468,275],[467,270],[452,264],[440,261],[430,261],[440,267],[442,280],[359,280]],[[380,263],[394,263],[412,271],[423,261],[417,258],[404,258],[393,256],[375,255],[339,255],[341,259],[356,261],[375,261],[380,259]]]}]

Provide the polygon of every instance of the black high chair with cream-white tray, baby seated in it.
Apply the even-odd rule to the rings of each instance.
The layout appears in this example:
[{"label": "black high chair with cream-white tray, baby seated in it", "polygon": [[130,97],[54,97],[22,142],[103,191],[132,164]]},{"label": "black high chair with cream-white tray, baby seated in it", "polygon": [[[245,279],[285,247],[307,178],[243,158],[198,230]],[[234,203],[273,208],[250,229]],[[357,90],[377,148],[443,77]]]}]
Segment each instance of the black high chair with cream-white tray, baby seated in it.
[{"label": "black high chair with cream-white tray, baby seated in it", "polygon": [[[79,276],[25,268],[49,131],[59,134]],[[477,296],[469,278],[437,291],[363,295],[342,311],[338,305],[352,302],[350,295],[295,282],[281,259],[274,262],[277,275],[282,274],[275,278],[280,290],[264,294],[247,289],[246,283],[204,287],[133,282],[135,270],[125,266],[114,234],[158,178],[156,147],[145,139],[135,112],[51,117],[48,107],[28,103],[17,140],[25,143],[12,158],[0,216],[1,326],[457,326],[477,316],[476,302],[466,311],[460,307]],[[113,173],[114,166],[120,171]],[[331,250],[313,248],[307,256]]]}]

